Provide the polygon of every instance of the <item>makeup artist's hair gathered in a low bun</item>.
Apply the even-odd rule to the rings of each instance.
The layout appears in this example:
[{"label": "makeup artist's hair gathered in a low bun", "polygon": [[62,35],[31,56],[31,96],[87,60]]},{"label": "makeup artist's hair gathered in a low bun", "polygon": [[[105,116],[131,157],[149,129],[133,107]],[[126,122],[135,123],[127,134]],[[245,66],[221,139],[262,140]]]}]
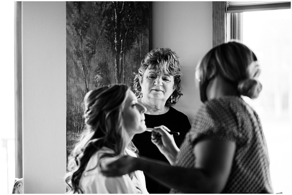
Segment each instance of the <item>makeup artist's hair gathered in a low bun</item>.
[{"label": "makeup artist's hair gathered in a low bun", "polygon": [[196,74],[205,82],[220,74],[237,86],[239,95],[258,97],[262,84],[257,80],[260,66],[256,55],[246,45],[230,41],[211,49],[199,63]]}]

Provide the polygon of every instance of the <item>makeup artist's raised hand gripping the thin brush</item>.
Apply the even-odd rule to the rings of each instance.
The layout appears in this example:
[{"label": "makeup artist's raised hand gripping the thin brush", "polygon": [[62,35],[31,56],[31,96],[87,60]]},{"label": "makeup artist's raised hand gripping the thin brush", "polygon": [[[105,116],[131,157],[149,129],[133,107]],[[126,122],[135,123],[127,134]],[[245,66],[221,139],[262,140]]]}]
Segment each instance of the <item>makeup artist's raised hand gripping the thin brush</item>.
[{"label": "makeup artist's raised hand gripping the thin brush", "polygon": [[161,125],[159,127],[154,127],[151,134],[151,141],[154,143],[159,151],[168,159],[171,165],[175,162],[175,157],[179,152],[179,148],[176,146],[173,139],[173,135],[169,134],[170,130]]}]

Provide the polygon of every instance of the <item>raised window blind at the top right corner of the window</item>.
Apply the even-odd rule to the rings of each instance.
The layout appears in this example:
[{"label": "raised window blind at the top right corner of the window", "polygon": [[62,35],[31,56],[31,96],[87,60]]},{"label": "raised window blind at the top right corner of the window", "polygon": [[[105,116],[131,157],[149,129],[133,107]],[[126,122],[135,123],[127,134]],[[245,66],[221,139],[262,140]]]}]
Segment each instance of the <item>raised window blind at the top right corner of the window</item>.
[{"label": "raised window blind at the top right corner of the window", "polygon": [[291,1],[227,1],[227,13],[290,8]]}]

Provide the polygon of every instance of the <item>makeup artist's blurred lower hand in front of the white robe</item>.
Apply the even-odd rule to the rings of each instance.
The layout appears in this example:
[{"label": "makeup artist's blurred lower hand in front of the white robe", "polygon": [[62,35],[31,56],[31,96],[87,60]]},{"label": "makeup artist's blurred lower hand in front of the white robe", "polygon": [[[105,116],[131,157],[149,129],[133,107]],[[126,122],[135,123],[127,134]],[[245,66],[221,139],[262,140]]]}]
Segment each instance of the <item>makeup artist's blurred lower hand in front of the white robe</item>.
[{"label": "makeup artist's blurred lower hand in front of the white robe", "polygon": [[99,169],[107,177],[121,176],[137,170],[136,160],[138,158],[126,155],[107,165],[100,164]]}]

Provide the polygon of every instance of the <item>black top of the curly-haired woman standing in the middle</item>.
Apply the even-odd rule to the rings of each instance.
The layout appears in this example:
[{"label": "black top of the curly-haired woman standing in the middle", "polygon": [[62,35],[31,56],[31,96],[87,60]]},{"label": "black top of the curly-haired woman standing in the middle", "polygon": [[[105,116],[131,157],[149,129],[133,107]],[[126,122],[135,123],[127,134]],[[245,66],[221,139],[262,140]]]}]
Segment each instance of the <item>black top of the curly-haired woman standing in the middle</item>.
[{"label": "black top of the curly-haired woman standing in the middle", "polygon": [[[189,119],[185,114],[177,111],[173,107],[169,107],[168,112],[160,115],[145,114],[146,127],[158,127],[160,125],[166,126],[171,131],[180,132],[179,136],[173,136],[178,147],[182,144],[185,134],[190,130],[191,125]],[[139,150],[140,156],[161,160],[168,163],[166,157],[160,153],[158,148],[151,141],[151,132],[144,132],[136,134],[133,143]],[[152,180],[145,175],[146,188],[150,194],[168,194],[170,189],[160,185],[158,182]]]}]

